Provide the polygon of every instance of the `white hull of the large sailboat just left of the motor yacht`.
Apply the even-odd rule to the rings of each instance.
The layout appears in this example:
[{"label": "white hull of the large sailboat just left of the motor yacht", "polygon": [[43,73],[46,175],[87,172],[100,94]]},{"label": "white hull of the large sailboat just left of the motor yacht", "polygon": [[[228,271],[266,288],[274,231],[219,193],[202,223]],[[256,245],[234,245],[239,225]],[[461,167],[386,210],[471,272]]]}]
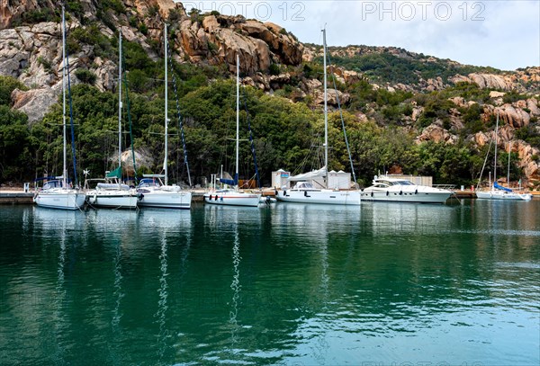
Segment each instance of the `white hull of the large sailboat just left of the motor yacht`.
[{"label": "white hull of the large sailboat just left of the motor yacht", "polygon": [[332,190],[284,190],[275,196],[278,201],[330,205],[360,205],[360,192]]}]

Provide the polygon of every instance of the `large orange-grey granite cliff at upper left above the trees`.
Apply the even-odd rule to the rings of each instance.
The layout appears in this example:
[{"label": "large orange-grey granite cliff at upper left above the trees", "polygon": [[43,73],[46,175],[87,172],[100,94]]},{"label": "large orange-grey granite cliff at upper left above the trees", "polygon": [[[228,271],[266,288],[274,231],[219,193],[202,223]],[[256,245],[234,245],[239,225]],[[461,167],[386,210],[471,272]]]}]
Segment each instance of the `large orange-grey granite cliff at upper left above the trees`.
[{"label": "large orange-grey granite cliff at upper left above the trees", "polygon": [[[80,4],[78,13],[68,13],[68,32],[88,30],[90,27],[86,24],[99,21],[96,14],[103,11],[99,9],[99,2],[84,0]],[[23,14],[46,12],[58,6],[58,1],[28,0],[19,4],[8,2],[0,8],[3,14],[0,75],[14,76],[31,88],[13,95],[14,108],[27,113],[30,121],[39,121],[56,102],[61,90],[61,28],[58,22],[10,27],[22,22]],[[172,49],[177,61],[225,65],[233,73],[238,54],[240,71],[250,76],[247,84],[257,83],[266,90],[286,82],[284,76],[266,76],[271,65],[302,62],[302,43],[274,23],[246,20],[242,16],[188,15],[182,4],[172,0],[125,0],[121,9],[106,12],[106,16],[102,14],[102,22],[98,22],[99,27],[92,31],[100,31],[112,39],[117,33],[113,29],[120,30],[126,40],[138,42],[150,58],[157,60],[163,53],[163,24],[168,22],[174,34]],[[53,15],[58,17],[58,14]],[[97,55],[94,44],[80,44],[80,49],[70,55],[70,67],[72,73],[79,67],[89,69],[96,76],[94,85],[101,90],[112,90],[115,85],[115,62]],[[77,82],[73,75],[72,80]]]}]

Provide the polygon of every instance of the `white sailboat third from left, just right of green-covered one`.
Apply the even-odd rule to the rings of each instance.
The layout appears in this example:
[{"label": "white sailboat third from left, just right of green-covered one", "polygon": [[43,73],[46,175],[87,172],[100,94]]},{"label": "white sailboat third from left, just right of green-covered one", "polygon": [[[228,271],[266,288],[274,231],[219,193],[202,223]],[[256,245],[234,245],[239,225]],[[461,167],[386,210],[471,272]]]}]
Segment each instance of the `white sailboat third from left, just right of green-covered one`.
[{"label": "white sailboat third from left, just right of green-covered one", "polygon": [[[163,161],[164,174],[143,174],[143,179],[139,183],[138,192],[140,194],[139,206],[157,207],[163,209],[191,209],[192,193],[184,191],[179,185],[168,184],[168,78],[167,61],[168,45],[167,31],[165,24],[165,158]],[[186,160],[187,161],[187,160]],[[189,168],[188,168],[189,169]],[[164,179],[165,183],[161,180]]]}]

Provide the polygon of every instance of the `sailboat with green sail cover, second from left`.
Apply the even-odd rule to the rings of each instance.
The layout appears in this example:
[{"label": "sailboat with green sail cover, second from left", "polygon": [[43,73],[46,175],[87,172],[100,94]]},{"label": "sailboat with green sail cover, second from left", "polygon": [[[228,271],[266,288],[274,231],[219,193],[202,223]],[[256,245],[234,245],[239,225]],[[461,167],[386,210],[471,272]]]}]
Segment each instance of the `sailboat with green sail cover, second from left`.
[{"label": "sailboat with green sail cover, second from left", "polygon": [[[105,174],[102,179],[86,179],[86,201],[98,208],[109,209],[135,209],[139,195],[129,185],[121,183],[121,32],[119,35],[120,58],[118,61],[118,167],[112,172]],[[99,182],[94,189],[90,189],[89,183]]]}]

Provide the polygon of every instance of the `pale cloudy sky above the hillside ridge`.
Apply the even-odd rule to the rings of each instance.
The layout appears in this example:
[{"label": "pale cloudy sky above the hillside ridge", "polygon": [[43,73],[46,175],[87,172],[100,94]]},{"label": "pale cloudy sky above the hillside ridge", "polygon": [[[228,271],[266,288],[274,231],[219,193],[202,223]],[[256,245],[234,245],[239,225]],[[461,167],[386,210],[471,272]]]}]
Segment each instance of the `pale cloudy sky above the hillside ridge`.
[{"label": "pale cloudy sky above the hillside ridge", "polygon": [[394,46],[463,64],[504,70],[540,66],[540,0],[183,1],[275,22],[302,42]]}]

